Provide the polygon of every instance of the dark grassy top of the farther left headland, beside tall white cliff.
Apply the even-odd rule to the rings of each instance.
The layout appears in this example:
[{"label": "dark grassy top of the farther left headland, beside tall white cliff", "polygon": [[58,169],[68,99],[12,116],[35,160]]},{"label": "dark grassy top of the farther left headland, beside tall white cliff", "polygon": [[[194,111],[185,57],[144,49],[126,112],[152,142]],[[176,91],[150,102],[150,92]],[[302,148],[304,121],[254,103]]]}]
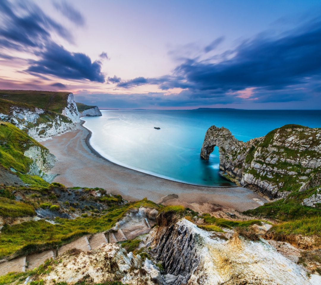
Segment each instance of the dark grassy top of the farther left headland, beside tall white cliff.
[{"label": "dark grassy top of the farther left headland, beside tall white cliff", "polygon": [[0,90],[0,99],[18,101],[62,113],[70,92],[53,92],[38,90]]}]

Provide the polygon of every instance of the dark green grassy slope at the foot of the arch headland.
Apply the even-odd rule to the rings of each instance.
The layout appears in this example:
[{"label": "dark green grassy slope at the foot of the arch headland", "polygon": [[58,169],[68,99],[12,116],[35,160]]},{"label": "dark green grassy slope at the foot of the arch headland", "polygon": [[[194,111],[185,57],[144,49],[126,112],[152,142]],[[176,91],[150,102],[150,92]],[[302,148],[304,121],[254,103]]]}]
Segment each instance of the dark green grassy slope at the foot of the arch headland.
[{"label": "dark green grassy slope at the foot of the arch headland", "polygon": [[247,210],[243,212],[243,214],[275,218],[281,221],[289,221],[293,219],[321,215],[321,208],[313,208],[301,205],[303,199],[316,193],[318,187],[314,187],[302,192],[293,192],[286,199],[265,203],[263,206],[252,210]]}]

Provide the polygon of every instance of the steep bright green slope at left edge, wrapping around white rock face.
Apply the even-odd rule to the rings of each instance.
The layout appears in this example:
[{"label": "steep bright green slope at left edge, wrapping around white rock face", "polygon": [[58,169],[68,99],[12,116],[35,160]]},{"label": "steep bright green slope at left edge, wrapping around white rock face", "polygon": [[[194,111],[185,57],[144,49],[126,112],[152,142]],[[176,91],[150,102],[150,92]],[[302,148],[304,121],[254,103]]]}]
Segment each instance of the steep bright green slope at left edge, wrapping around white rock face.
[{"label": "steep bright green slope at left edge, wrapping around white rock face", "polygon": [[32,146],[47,149],[14,125],[0,123],[0,164],[7,169],[12,167],[18,171],[17,175],[23,182],[46,187],[49,184],[42,178],[27,174],[32,160],[23,154]]}]

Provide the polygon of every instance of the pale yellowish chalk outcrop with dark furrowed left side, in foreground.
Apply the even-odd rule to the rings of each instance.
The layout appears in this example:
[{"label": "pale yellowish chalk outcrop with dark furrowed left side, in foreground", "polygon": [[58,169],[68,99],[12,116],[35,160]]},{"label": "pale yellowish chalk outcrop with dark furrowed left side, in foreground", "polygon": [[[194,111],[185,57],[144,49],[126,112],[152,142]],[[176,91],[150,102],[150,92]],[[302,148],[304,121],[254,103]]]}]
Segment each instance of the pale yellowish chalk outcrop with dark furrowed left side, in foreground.
[{"label": "pale yellowish chalk outcrop with dark furrowed left side, in foreground", "polygon": [[234,235],[222,239],[182,219],[155,228],[148,239],[161,261],[168,285],[180,284],[318,284],[321,276],[307,272],[265,240]]}]

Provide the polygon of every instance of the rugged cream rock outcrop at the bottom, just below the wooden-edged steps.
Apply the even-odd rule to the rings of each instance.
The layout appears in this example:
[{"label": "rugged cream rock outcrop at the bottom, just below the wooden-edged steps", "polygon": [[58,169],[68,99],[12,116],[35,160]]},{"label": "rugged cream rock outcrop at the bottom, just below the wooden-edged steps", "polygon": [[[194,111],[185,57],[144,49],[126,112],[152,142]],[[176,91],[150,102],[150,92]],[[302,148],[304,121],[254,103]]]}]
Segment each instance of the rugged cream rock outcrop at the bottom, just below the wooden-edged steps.
[{"label": "rugged cream rock outcrop at the bottom, just below the wooden-edged steps", "polygon": [[90,252],[70,250],[59,256],[61,262],[51,265],[49,273],[37,276],[44,284],[77,281],[104,283],[120,280],[124,284],[165,285],[156,266],[149,260],[143,261],[139,255],[128,253],[118,244],[102,244]]}]

